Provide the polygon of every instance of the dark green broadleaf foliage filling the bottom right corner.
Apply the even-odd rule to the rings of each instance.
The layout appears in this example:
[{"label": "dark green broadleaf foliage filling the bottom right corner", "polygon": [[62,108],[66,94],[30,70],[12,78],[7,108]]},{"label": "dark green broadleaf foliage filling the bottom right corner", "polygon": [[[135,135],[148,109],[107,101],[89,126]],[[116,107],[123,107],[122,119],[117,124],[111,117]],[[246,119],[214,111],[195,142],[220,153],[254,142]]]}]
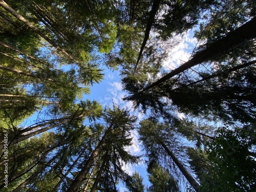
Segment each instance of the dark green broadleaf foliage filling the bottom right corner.
[{"label": "dark green broadleaf foliage filling the bottom right corner", "polygon": [[[254,191],[254,124],[234,130],[222,127],[217,134],[207,145],[210,164],[207,169],[214,184],[208,191]],[[202,186],[207,188],[209,183],[204,181]]]}]

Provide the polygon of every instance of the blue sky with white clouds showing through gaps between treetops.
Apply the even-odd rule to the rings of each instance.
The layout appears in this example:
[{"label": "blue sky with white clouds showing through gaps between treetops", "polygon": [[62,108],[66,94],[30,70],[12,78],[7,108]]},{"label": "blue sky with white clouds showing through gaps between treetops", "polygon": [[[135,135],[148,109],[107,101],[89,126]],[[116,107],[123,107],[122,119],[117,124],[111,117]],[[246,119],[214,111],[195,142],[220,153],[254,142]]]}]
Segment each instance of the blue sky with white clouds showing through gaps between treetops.
[{"label": "blue sky with white clouds showing through gaps between treetops", "polygon": [[[162,66],[165,70],[175,69],[182,65],[184,62],[189,60],[191,52],[197,44],[197,40],[193,38],[193,31],[189,30],[183,36],[176,36],[176,39],[179,40],[179,44],[170,50],[168,59],[163,62]],[[112,71],[106,67],[104,69],[104,79],[99,84],[94,84],[91,88],[90,95],[84,95],[83,100],[90,99],[98,101],[104,108],[104,106],[109,105],[110,107],[115,104],[120,104],[121,108],[127,108],[131,111],[132,115],[138,117],[138,122],[145,118],[145,115],[133,109],[133,104],[131,101],[123,101],[127,93],[123,91],[122,84],[120,82],[119,71]],[[179,117],[183,117],[182,114],[178,114]],[[132,155],[142,155],[143,146],[139,142],[139,135],[136,130],[132,133],[133,144],[127,148],[127,150]],[[147,179],[146,165],[142,162],[137,165],[126,164],[124,167],[129,175],[132,175],[137,171],[143,177],[143,183],[147,186],[150,185]],[[124,191],[125,187],[120,185],[120,191]]]}]

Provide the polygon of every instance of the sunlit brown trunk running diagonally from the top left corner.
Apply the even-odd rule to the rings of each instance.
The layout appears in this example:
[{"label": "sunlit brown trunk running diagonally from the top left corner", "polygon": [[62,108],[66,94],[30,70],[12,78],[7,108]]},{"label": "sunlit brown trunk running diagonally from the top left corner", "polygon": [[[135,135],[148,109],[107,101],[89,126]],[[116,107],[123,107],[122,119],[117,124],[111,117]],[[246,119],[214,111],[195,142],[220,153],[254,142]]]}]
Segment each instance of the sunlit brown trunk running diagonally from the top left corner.
[{"label": "sunlit brown trunk running diagonally from the top left corner", "polygon": [[42,38],[44,38],[45,40],[47,40],[50,44],[52,44],[56,49],[60,50],[63,54],[65,54],[66,56],[68,56],[71,60],[75,61],[77,64],[79,63],[78,61],[76,61],[72,55],[70,55],[69,53],[67,53],[65,50],[63,50],[62,48],[60,48],[55,42],[53,42],[49,37],[47,37],[45,34],[43,34],[42,32],[40,32],[38,29],[36,29],[36,27],[34,27],[26,18],[24,18],[22,15],[18,14],[14,9],[12,9],[6,2],[4,2],[3,0],[0,0],[0,5],[5,8],[7,11],[9,11],[13,16],[15,16],[16,18],[18,18],[19,20],[21,20],[24,24],[26,24],[28,27],[30,27],[32,30],[34,30],[38,35],[40,35]]}]

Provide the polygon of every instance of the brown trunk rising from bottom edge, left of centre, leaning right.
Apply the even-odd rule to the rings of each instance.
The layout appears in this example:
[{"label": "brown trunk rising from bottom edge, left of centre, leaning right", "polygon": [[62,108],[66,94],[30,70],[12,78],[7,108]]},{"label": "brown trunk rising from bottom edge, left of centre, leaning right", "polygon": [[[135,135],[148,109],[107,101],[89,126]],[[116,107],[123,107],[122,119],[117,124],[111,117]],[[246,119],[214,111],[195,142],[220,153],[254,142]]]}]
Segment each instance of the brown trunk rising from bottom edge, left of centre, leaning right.
[{"label": "brown trunk rising from bottom edge, left of centre, leaning right", "polygon": [[109,127],[108,130],[106,130],[104,136],[102,137],[102,139],[99,141],[98,145],[96,146],[95,150],[93,151],[92,155],[89,157],[89,159],[84,162],[84,166],[82,167],[82,169],[80,170],[79,174],[76,176],[76,178],[74,179],[74,181],[71,183],[68,191],[70,192],[77,192],[79,190],[79,188],[82,185],[82,182],[84,181],[84,179],[87,177],[89,170],[92,166],[92,164],[95,161],[95,158],[99,155],[99,153],[102,150],[102,146],[104,141],[106,140],[106,137],[109,135],[109,132],[111,130],[111,127]]}]

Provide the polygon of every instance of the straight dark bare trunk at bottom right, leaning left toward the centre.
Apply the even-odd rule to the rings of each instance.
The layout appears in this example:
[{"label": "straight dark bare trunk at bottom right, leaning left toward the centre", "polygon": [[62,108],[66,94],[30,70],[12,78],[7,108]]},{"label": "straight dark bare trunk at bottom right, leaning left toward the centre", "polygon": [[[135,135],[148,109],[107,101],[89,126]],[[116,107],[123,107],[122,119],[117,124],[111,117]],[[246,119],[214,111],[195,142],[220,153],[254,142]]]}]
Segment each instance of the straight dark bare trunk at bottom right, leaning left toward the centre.
[{"label": "straight dark bare trunk at bottom right, leaning left toward the centre", "polygon": [[178,166],[180,169],[181,173],[184,175],[184,177],[187,179],[187,181],[190,183],[190,185],[197,191],[199,192],[200,185],[198,182],[190,175],[190,173],[187,171],[187,169],[183,166],[183,164],[176,158],[176,156],[169,150],[169,148],[162,142],[160,141],[160,144],[162,147],[165,149],[167,154],[170,156],[170,158],[173,159],[174,163]]}]

